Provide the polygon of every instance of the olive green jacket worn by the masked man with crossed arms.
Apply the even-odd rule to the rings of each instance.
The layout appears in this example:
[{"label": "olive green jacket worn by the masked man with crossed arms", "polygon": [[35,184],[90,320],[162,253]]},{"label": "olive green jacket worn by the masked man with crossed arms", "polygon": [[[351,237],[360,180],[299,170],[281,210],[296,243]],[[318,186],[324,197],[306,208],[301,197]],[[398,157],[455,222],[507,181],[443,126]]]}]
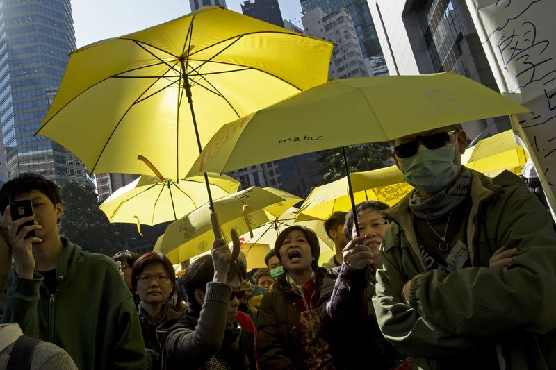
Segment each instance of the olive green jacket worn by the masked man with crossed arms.
[{"label": "olive green jacket worn by the masked man with crossed arms", "polygon": [[[416,369],[482,369],[477,348],[492,348],[500,368],[556,369],[556,233],[552,219],[507,171],[472,174],[466,222],[472,267],[427,271],[413,228],[410,196],[385,211],[382,267],[373,298],[384,337],[414,357]],[[514,260],[489,269],[501,246]],[[411,280],[409,305],[402,301]],[[463,366],[463,365],[461,365]]]}]

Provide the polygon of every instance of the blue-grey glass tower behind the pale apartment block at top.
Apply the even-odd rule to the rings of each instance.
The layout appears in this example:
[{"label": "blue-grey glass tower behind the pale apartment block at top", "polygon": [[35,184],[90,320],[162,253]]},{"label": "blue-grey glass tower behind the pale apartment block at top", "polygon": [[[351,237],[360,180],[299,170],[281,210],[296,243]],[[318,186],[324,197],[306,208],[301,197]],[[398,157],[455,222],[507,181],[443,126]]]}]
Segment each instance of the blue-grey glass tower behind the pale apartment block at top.
[{"label": "blue-grey glass tower behind the pale apartment block at top", "polygon": [[303,13],[320,7],[326,15],[331,15],[345,8],[352,18],[363,58],[373,65],[373,75],[388,74],[367,0],[300,0],[300,3]]}]

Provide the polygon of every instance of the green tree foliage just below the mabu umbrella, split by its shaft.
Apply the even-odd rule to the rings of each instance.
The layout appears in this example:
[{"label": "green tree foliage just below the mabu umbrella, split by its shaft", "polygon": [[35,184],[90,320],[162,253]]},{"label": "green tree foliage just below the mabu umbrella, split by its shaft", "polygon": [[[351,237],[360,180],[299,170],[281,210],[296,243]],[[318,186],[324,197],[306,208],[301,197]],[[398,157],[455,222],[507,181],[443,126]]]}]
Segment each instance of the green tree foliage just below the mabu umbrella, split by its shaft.
[{"label": "green tree foliage just below the mabu umbrella, split by its shaft", "polygon": [[[370,142],[345,147],[350,172],[370,171],[393,165],[391,151],[388,142]],[[324,183],[330,183],[345,176],[341,148],[320,151],[318,163]]]}]

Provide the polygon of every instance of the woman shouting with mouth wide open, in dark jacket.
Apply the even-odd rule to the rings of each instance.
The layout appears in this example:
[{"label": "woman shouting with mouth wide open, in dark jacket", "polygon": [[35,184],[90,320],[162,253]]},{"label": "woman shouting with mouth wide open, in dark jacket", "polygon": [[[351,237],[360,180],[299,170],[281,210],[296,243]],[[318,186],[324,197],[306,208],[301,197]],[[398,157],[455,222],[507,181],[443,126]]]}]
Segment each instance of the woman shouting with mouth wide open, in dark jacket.
[{"label": "woman shouting with mouth wide open, in dark jacket", "polygon": [[334,369],[322,337],[318,297],[326,269],[318,267],[316,234],[302,226],[280,233],[275,251],[284,267],[259,309],[263,369]]}]

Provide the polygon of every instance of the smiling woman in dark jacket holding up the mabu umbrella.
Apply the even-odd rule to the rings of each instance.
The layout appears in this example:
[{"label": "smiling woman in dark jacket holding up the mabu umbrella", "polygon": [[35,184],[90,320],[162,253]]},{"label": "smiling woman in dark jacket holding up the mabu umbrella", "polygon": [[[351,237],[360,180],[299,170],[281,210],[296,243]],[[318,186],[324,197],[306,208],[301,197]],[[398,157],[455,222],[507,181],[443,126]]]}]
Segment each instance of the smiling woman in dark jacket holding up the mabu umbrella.
[{"label": "smiling woman in dark jacket holding up the mabu umbrella", "polygon": [[[375,294],[375,269],[379,267],[379,247],[388,226],[382,215],[388,205],[364,201],[345,218],[343,233],[348,240],[343,262],[327,272],[320,296],[322,327],[334,354],[338,369],[365,367],[407,369],[407,358],[396,351],[380,333],[371,298]],[[359,237],[357,237],[359,230]]]}]

